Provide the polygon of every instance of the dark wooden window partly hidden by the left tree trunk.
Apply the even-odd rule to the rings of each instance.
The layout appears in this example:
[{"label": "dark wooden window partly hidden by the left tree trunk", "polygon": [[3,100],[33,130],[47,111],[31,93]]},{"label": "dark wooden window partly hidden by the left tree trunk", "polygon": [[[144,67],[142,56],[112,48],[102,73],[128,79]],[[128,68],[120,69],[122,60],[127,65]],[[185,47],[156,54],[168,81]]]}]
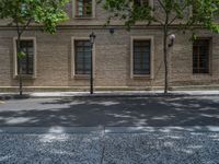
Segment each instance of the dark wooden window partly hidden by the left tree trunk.
[{"label": "dark wooden window partly hidden by the left tree trunk", "polygon": [[[18,42],[16,42],[18,43]],[[21,73],[33,74],[34,72],[34,42],[33,40],[21,40],[21,50],[25,52],[25,57],[21,59]],[[19,66],[19,60],[18,60]],[[18,67],[18,72],[19,67]]]}]

